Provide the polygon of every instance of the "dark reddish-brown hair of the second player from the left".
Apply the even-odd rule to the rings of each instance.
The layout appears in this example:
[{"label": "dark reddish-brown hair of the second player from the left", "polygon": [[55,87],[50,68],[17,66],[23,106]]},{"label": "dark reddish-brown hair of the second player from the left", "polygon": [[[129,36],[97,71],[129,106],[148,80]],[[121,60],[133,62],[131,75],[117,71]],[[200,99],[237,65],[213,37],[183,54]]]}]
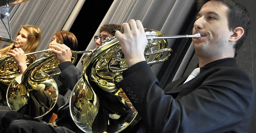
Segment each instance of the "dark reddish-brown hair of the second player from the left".
[{"label": "dark reddish-brown hair of the second player from the left", "polygon": [[61,42],[61,44],[65,44],[70,50],[76,51],[78,49],[78,41],[72,32],[60,30],[55,32],[55,36],[62,40],[63,42]]}]

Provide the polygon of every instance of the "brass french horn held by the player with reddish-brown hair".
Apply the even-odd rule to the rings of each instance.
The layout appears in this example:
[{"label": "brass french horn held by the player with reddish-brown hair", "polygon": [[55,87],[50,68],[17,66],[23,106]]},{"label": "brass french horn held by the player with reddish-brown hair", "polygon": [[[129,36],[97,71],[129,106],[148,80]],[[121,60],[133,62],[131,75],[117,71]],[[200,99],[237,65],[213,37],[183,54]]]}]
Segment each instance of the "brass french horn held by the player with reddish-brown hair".
[{"label": "brass french horn held by the player with reddish-brown hair", "polygon": [[[76,59],[77,55],[73,55],[73,64]],[[58,64],[60,63],[55,54],[44,53],[23,74],[15,77],[6,94],[10,109],[34,118],[46,115],[58,99],[58,86],[52,79],[60,74],[56,70]]]}]

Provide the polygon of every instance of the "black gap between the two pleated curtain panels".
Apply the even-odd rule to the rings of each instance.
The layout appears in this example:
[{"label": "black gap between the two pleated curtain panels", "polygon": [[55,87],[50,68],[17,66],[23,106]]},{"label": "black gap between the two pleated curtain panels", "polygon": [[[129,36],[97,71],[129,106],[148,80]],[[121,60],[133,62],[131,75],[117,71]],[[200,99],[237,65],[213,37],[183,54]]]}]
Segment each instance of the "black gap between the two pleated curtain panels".
[{"label": "black gap between the two pleated curtain panels", "polygon": [[[70,32],[74,33],[78,40],[78,51],[86,49],[113,1],[114,0],[86,0],[84,2],[74,24],[70,28]],[[92,12],[90,9],[96,10]],[[82,54],[78,54],[78,59],[80,59],[81,56]],[[76,61],[75,65],[78,61],[79,60]]]}]

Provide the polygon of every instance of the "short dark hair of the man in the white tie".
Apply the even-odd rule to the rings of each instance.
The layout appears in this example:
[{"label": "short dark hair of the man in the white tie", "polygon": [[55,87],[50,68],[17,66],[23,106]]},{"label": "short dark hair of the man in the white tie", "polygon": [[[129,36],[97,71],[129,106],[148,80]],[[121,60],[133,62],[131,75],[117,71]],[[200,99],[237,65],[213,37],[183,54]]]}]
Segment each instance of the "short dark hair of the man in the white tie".
[{"label": "short dark hair of the man in the white tie", "polygon": [[[197,1],[198,11],[208,1],[210,0],[198,0]],[[242,44],[244,43],[250,29],[249,13],[243,5],[237,3],[234,0],[217,0],[217,1],[223,2],[229,8],[227,12],[229,29],[234,30],[234,28],[236,27],[244,28],[244,35],[236,42],[236,45],[234,46],[236,50],[236,53],[235,53],[235,56],[236,56],[238,50],[241,48]]]}]

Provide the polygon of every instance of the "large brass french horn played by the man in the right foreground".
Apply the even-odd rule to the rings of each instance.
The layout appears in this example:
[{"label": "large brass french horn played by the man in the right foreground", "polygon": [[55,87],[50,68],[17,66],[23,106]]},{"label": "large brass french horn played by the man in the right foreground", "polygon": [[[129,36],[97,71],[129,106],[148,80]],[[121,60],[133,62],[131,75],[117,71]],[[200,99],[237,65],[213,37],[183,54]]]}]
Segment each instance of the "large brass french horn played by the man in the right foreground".
[{"label": "large brass french horn played by the man in the right foreground", "polygon": [[[172,49],[167,48],[167,38],[200,37],[200,34],[164,36],[161,32],[149,29],[145,29],[145,34],[148,45],[144,55],[149,66],[166,61],[172,53]],[[112,95],[120,94],[122,88],[118,88],[117,84],[122,80],[122,72],[128,68],[128,64],[122,54],[120,43],[114,36],[89,54],[82,65],[82,78],[74,87],[70,98],[70,113],[74,122],[82,131],[92,133],[92,124],[100,107],[99,97],[95,91],[101,89]],[[132,103],[125,102],[129,104],[133,114],[126,122],[120,123],[119,128],[113,131],[114,133],[128,127],[137,115]]]}]

